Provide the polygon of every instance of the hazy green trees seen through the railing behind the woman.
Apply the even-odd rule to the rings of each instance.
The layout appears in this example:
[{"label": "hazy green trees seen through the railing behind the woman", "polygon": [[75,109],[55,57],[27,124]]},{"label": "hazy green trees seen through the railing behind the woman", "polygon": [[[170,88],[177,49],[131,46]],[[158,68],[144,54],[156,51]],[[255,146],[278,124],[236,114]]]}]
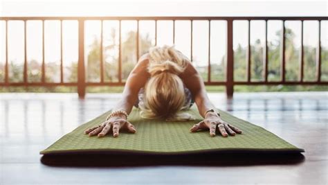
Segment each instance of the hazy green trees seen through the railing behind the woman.
[{"label": "hazy green trees seen through the railing behind the woman", "polygon": [[[115,28],[111,29],[109,42],[103,46],[103,51],[100,51],[100,40],[94,37],[92,44],[88,46],[89,52],[86,57],[86,81],[100,81],[100,57],[103,52],[104,62],[104,81],[118,82],[118,61],[119,61],[119,46],[118,46],[118,31]],[[279,38],[280,31],[277,31],[276,36]],[[299,80],[300,72],[300,48],[295,48],[293,40],[295,34],[291,29],[286,29],[285,35],[285,60],[286,60],[286,80]],[[136,55],[136,32],[130,31],[127,33],[125,40],[121,43],[121,60],[122,60],[122,81],[124,82],[129,76],[131,69],[134,68],[138,58]],[[140,35],[139,38],[139,56],[147,52],[152,46],[152,39],[149,35]],[[281,41],[280,39],[268,42],[268,80],[280,80],[281,68]],[[240,44],[234,51],[234,79],[236,81],[245,81],[247,76],[246,71],[246,48]],[[257,39],[255,44],[250,46],[251,52],[251,80],[264,80],[264,43]],[[316,80],[316,48],[304,46],[304,80]],[[195,58],[197,56],[194,56]],[[322,80],[328,80],[328,49],[322,47]],[[224,81],[226,80],[226,56],[221,58],[220,62],[211,61],[211,80]],[[4,66],[0,66],[0,81],[4,79]],[[37,60],[28,61],[28,82],[40,82],[42,78],[42,64]],[[60,62],[53,61],[46,63],[46,82],[60,82]],[[78,80],[78,62],[72,61],[69,66],[64,66],[64,82],[77,82]],[[208,67],[197,67],[204,80],[208,79]],[[24,65],[14,61],[10,61],[9,65],[10,82],[21,82],[23,80]],[[88,92],[122,92],[124,87],[88,87]],[[223,86],[206,86],[208,91],[225,91]],[[36,92],[74,92],[76,87],[0,87],[0,91],[36,91]],[[235,91],[327,91],[327,87],[322,86],[236,86]]]}]

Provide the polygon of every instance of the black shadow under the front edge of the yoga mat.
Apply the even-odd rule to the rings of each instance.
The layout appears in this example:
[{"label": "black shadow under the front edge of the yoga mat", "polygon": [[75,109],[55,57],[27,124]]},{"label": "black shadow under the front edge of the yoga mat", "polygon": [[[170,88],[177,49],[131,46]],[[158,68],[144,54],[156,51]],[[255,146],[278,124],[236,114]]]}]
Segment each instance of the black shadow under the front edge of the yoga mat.
[{"label": "black shadow under the front edge of the yoga mat", "polygon": [[304,155],[298,152],[211,152],[189,155],[149,154],[69,154],[44,155],[47,166],[127,167],[127,166],[255,166],[300,164]]}]

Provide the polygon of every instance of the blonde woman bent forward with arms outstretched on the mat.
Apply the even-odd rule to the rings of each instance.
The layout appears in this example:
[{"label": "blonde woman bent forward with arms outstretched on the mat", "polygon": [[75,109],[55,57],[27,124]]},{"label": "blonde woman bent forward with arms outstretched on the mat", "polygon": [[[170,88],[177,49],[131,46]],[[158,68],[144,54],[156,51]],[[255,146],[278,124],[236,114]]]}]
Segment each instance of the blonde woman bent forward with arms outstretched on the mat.
[{"label": "blonde woman bent forward with arms outstretched on the mat", "polygon": [[112,109],[106,121],[86,130],[89,136],[105,136],[112,131],[116,137],[120,130],[136,133],[127,116],[135,105],[140,108],[142,118],[159,118],[166,121],[188,121],[192,116],[181,113],[196,103],[204,120],[194,124],[190,132],[209,129],[215,136],[219,130],[222,136],[235,136],[242,130],[222,121],[215,106],[210,103],[206,89],[197,70],[180,51],[173,46],[152,47],[143,55],[129,73],[122,99]]}]

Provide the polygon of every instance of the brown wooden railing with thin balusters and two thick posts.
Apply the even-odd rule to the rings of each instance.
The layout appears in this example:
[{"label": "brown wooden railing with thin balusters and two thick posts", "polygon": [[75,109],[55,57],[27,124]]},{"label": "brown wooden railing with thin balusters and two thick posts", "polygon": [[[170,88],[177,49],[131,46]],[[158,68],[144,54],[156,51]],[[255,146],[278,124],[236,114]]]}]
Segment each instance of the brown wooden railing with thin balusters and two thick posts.
[{"label": "brown wooden railing with thin balusters and two thick posts", "polygon": [[[212,20],[224,20],[226,21],[226,80],[222,82],[211,81],[211,65],[210,65],[210,52],[208,52],[208,80],[205,81],[206,85],[224,85],[226,86],[226,94],[228,97],[233,96],[233,87],[234,85],[328,85],[327,81],[322,81],[320,79],[321,76],[321,45],[320,45],[320,37],[322,34],[320,33],[320,24],[321,21],[327,21],[328,17],[0,17],[0,20],[6,22],[6,63],[5,63],[5,78],[4,82],[0,82],[0,86],[11,87],[11,86],[39,86],[39,87],[49,87],[49,86],[75,86],[78,87],[78,95],[80,98],[83,98],[86,93],[87,86],[110,86],[110,85],[124,85],[125,82],[122,82],[122,59],[121,59],[121,39],[119,42],[119,57],[118,57],[118,82],[104,82],[104,62],[101,52],[100,57],[100,82],[86,82],[86,71],[84,67],[84,21],[89,20],[118,20],[119,21],[119,37],[121,37],[121,21],[125,20],[135,20],[137,21],[137,38],[139,37],[139,21],[143,20],[153,20],[155,21],[155,43],[157,43],[157,21],[161,20],[169,20],[173,22],[173,42],[175,40],[175,21],[177,20],[187,20],[190,21],[190,50],[191,50],[191,60],[192,60],[192,39],[195,35],[192,34],[193,31],[193,21],[196,20],[204,20],[208,21],[208,47],[210,48],[210,25]],[[8,21],[13,20],[21,20],[24,21],[24,49],[25,49],[25,57],[24,57],[24,79],[23,82],[10,82],[8,78]],[[43,50],[42,50],[42,79],[41,82],[28,82],[28,74],[27,74],[27,57],[26,57],[26,21],[29,20],[41,20],[43,25]],[[44,21],[47,20],[60,20],[61,22],[64,20],[76,20],[78,21],[78,82],[64,82],[63,81],[63,64],[61,60],[60,64],[60,82],[46,82],[45,80],[45,62],[44,62]],[[236,81],[234,80],[234,51],[233,51],[233,21],[235,20],[246,20],[248,21],[248,46],[246,51],[246,81]],[[262,81],[252,81],[250,79],[251,69],[250,69],[250,21],[253,20],[263,20],[265,21],[265,46],[264,46],[264,62],[263,62],[263,79]],[[282,21],[282,47],[280,51],[281,55],[281,68],[280,68],[280,81],[269,81],[268,80],[268,24],[269,20],[280,20]],[[301,22],[301,33],[303,33],[303,21],[318,21],[318,44],[317,44],[317,53],[316,53],[316,80],[315,81],[304,81],[303,80],[303,71],[304,71],[304,60],[303,60],[303,34],[301,35],[301,49],[300,49],[300,80],[298,81],[289,81],[286,80],[286,58],[285,58],[285,40],[284,32],[285,32],[285,21],[300,21]],[[102,24],[101,24],[102,25]],[[102,28],[101,28],[102,33]],[[61,29],[62,35],[62,29]],[[139,55],[139,39],[136,39],[136,55]],[[101,47],[102,47],[102,37],[100,39]],[[209,49],[210,50],[210,49]],[[62,40],[61,40],[61,51],[62,51]],[[101,50],[102,51],[102,50]]]}]

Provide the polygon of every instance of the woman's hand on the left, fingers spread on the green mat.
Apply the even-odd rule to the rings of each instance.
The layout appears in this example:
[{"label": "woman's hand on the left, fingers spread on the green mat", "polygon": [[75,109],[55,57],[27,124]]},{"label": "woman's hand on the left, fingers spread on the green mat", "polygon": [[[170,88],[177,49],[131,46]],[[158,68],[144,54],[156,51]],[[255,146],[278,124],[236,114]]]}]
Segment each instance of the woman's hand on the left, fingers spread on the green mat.
[{"label": "woman's hand on the left, fingers spread on the green mat", "polygon": [[109,132],[112,131],[113,136],[117,137],[120,130],[127,130],[127,132],[136,133],[136,129],[134,125],[132,125],[127,118],[122,116],[113,116],[109,118],[109,120],[100,123],[97,127],[89,128],[88,130],[84,131],[84,134],[89,134],[89,136],[98,137],[105,136]]}]

